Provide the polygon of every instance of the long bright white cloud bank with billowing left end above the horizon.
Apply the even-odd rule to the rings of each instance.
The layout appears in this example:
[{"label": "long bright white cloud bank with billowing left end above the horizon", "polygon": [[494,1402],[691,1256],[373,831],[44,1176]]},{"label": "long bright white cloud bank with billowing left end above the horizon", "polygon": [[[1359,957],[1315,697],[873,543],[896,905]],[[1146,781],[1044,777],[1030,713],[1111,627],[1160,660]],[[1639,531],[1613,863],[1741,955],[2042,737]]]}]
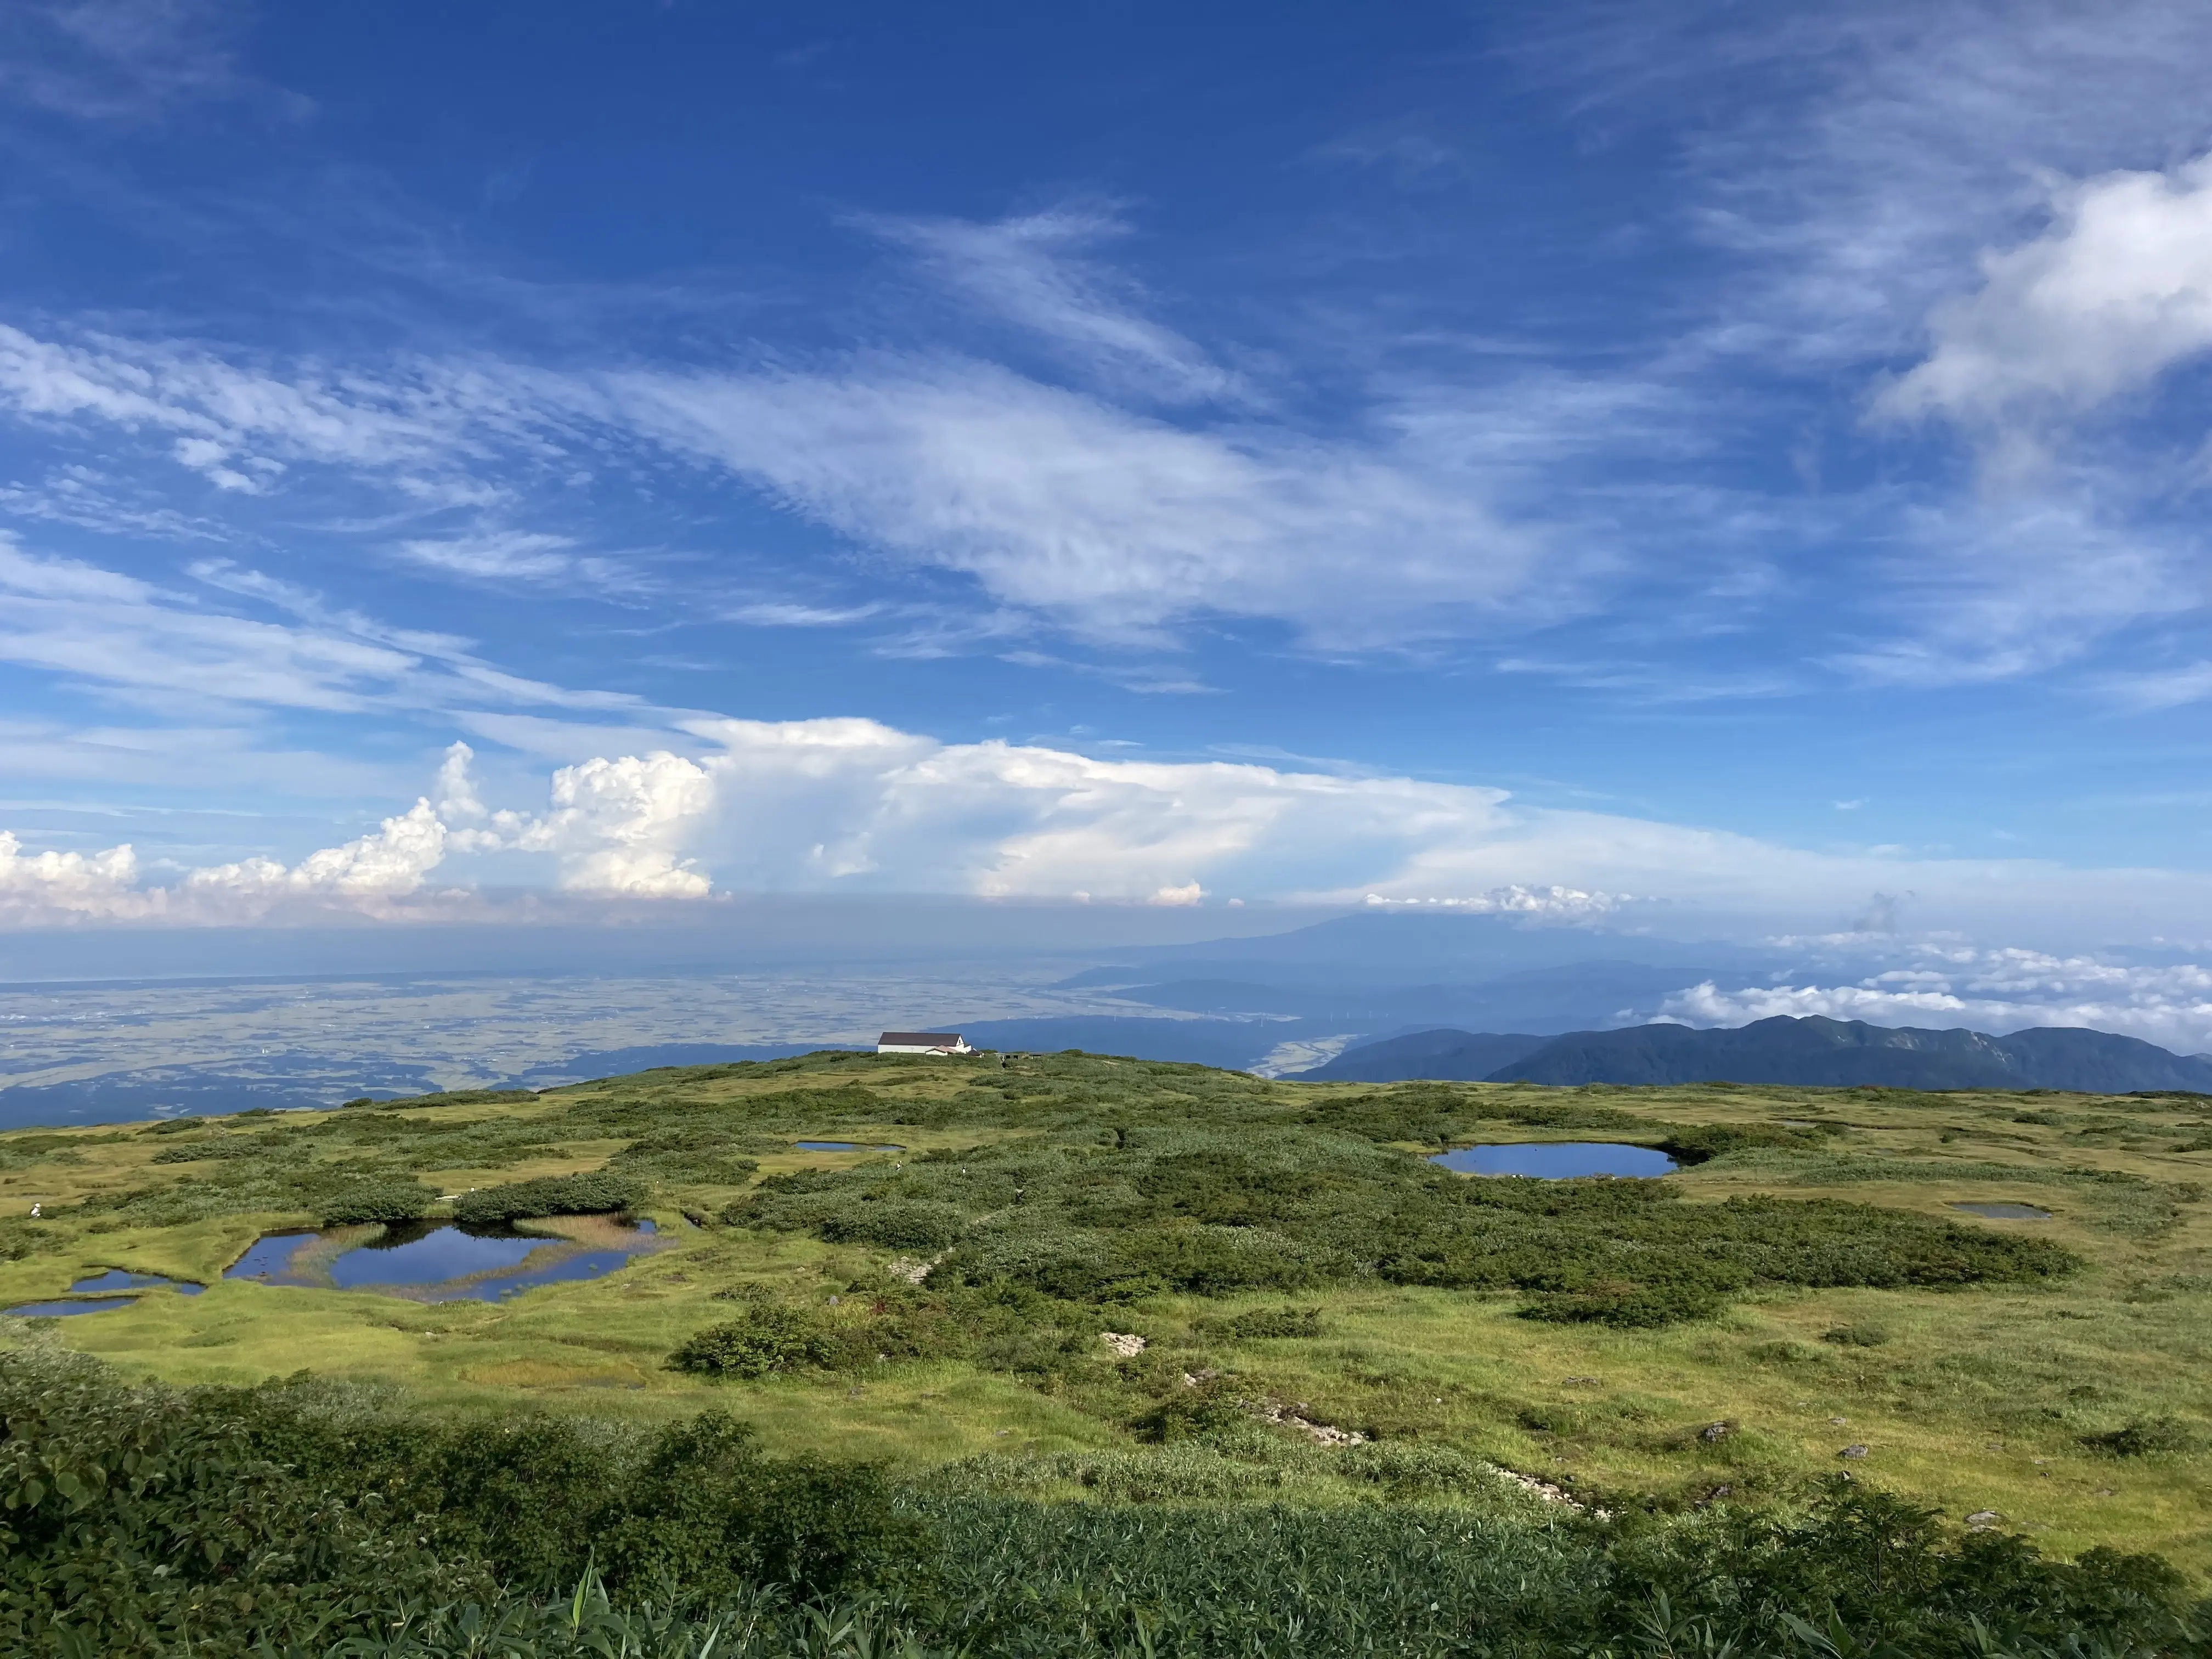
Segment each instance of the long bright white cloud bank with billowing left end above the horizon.
[{"label": "long bright white cloud bank with billowing left end above the horizon", "polygon": [[[296,865],[250,858],[166,889],[131,887],[133,865],[82,865],[66,854],[35,863],[18,852],[11,867],[27,891],[106,891],[97,902],[71,900],[88,914],[168,920],[234,920],[303,905],[394,918],[462,914],[480,900],[427,887],[434,869],[462,854],[476,860],[471,878],[524,876],[524,885],[535,869],[500,860],[549,858],[562,891],[599,900],[697,900],[712,891],[1128,905],[1250,898],[1553,925],[1619,911],[1637,925],[1666,918],[1728,933],[1783,922],[1820,933],[1860,914],[1869,891],[1887,891],[1911,894],[1927,929],[1986,936],[2033,918],[2046,938],[2212,933],[2212,880],[2185,872],[1807,852],[1692,825],[1524,807],[1504,790],[1462,783],[940,743],[867,719],[688,717],[659,734],[664,745],[615,754],[580,752],[591,734],[650,737],[575,728],[566,748],[575,759],[551,772],[542,812],[487,805],[469,748],[453,745],[416,807]],[[535,726],[513,737],[562,752]],[[1962,973],[1966,960],[1929,971]],[[2081,964],[1989,958],[1973,967],[1989,984],[2000,971],[2059,969],[2086,982]],[[1980,995],[1973,987],[1876,980],[1849,995],[1969,993]]]}]

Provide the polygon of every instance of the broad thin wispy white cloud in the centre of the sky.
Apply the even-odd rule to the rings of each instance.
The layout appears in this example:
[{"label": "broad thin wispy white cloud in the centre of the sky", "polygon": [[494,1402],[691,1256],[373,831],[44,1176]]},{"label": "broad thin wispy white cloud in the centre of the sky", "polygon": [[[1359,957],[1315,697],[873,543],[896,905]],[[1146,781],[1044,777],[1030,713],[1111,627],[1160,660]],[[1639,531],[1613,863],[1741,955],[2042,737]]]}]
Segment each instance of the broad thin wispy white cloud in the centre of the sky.
[{"label": "broad thin wispy white cloud in the centre of the sky", "polygon": [[1338,646],[1444,637],[1544,562],[1542,535],[1495,518],[1449,453],[1192,431],[967,358],[604,385],[608,418],[1093,637],[1208,613]]}]

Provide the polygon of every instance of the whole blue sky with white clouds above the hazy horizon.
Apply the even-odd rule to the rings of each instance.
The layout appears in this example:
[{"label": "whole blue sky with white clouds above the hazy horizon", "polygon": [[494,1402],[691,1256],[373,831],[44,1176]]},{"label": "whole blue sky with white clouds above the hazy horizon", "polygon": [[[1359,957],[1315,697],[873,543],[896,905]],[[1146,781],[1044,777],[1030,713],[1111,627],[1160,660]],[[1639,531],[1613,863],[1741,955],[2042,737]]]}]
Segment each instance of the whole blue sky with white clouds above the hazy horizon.
[{"label": "whole blue sky with white clouds above the hazy horizon", "polygon": [[2190,953],[2208,73],[2170,2],[24,0],[0,914]]}]

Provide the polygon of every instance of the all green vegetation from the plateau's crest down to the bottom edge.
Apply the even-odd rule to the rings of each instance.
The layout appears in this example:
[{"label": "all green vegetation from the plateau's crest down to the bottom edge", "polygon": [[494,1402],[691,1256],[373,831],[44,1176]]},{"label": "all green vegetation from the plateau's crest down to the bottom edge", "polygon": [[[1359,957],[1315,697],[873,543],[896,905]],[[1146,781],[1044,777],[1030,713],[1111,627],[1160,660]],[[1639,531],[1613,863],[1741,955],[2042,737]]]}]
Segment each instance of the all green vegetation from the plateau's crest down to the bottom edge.
[{"label": "all green vegetation from the plateau's crest down to the bottom edge", "polygon": [[[1975,1628],[2013,1644],[1984,1650],[2104,1630],[2115,1650],[2181,1652],[2197,1590],[2172,1573],[2212,1566],[2205,1126],[2194,1097],[2024,1110],[810,1055],[22,1133],[0,1137],[9,1301],[108,1267],[208,1292],[9,1321],[0,1347],[9,1367],[102,1356],[97,1383],[69,1385],[80,1425],[217,1425],[288,1471],[239,1491],[265,1493],[276,1533],[325,1515],[299,1559],[330,1575],[276,1564],[246,1595],[336,1610],[323,1646],[272,1652],[571,1652],[597,1650],[586,1626],[619,1626],[661,1644],[646,1652],[712,1635],[714,1652],[765,1655],[836,1650],[836,1621],[854,1652],[1820,1652],[1792,1619],[1818,1635],[1832,1617],[1900,1652],[1955,1652]],[[1542,1183],[1425,1161],[1590,1137],[1683,1168]],[[263,1230],[557,1230],[606,1208],[650,1214],[666,1248],[495,1305],[221,1281]],[[319,1380],[276,1387],[303,1367]],[[100,1416],[139,1385],[166,1405]],[[0,1449],[24,1444],[11,1416]],[[526,1473],[482,1473],[524,1453]],[[690,1473],[655,1486],[655,1458]],[[560,1469],[595,1484],[502,1533]],[[717,1504],[739,1517],[712,1498],[739,1478],[830,1482],[816,1498],[876,1506],[847,1517],[854,1537],[880,1522],[891,1542],[849,1573],[801,1571],[754,1517],[752,1542],[717,1546],[741,1564],[719,1579],[619,1542],[690,1484],[710,1493],[684,1511],[692,1528]],[[394,1493],[442,1520],[394,1522]],[[49,1482],[35,1504],[77,1500]],[[80,1542],[115,1535],[84,1513]],[[1838,1566],[1851,1528],[1918,1542],[1865,1557],[1880,1564],[1858,1582]],[[327,1588],[354,1584],[349,1551],[387,1564],[358,1582],[367,1599]],[[1916,1586],[1898,1619],[1936,1635],[1885,1635],[1876,1579]],[[1287,1588],[1223,1588],[1259,1582]],[[168,1641],[179,1584],[117,1606]],[[237,1601],[217,1588],[186,1599],[195,1619]],[[398,1604],[405,1619],[367,1617]],[[272,1628],[254,1619],[223,1641]],[[509,1646],[484,1646],[491,1630]]]}]

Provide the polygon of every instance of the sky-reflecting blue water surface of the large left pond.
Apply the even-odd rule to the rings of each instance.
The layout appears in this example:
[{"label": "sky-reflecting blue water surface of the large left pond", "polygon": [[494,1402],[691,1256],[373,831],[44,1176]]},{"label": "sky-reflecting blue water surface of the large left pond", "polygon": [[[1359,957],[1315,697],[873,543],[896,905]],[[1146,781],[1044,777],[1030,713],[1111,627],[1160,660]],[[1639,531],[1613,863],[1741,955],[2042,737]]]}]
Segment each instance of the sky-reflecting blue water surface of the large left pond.
[{"label": "sky-reflecting blue water surface of the large left pond", "polygon": [[500,1301],[533,1285],[597,1279],[622,1267],[653,1239],[653,1223],[622,1228],[630,1248],[593,1250],[551,1232],[462,1232],[453,1223],[405,1223],[343,1250],[327,1265],[299,1261],[325,1241],[319,1232],[270,1232],[239,1256],[226,1279],[270,1279],[336,1290],[420,1287],[422,1301]]}]

